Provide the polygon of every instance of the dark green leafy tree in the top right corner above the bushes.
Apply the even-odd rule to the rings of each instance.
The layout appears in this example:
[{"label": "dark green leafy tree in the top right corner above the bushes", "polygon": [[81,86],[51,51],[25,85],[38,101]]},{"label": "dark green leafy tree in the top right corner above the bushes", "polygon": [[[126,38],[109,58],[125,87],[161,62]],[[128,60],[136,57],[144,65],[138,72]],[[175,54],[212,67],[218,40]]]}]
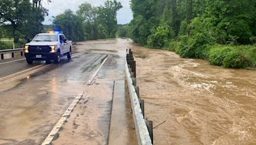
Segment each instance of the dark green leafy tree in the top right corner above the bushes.
[{"label": "dark green leafy tree in the top right corner above the bushes", "polygon": [[[253,1],[206,0],[205,18],[211,18],[218,43],[230,41],[248,44],[255,32],[255,5]],[[236,38],[236,39],[234,39]]]}]

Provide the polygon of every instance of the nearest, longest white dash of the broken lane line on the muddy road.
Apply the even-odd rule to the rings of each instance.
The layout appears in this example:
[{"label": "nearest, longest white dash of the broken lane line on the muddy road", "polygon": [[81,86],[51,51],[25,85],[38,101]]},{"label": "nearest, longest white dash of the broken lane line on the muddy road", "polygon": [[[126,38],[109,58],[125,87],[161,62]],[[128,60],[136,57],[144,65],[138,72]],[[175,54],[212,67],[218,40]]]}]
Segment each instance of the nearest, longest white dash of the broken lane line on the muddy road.
[{"label": "nearest, longest white dash of the broken lane line on the muddy road", "polygon": [[79,100],[81,100],[81,98],[83,97],[84,93],[81,93],[79,95],[77,95],[76,99],[74,99],[74,101],[72,102],[72,104],[70,104],[70,106],[68,107],[68,109],[65,111],[65,113],[62,115],[62,117],[60,118],[60,120],[58,121],[58,123],[56,123],[56,125],[54,126],[54,128],[52,128],[50,134],[46,137],[46,139],[44,140],[44,142],[42,143],[42,145],[50,145],[51,142],[56,139],[58,136],[58,132],[60,131],[62,125],[65,123],[65,121],[68,119],[68,117],[70,116],[70,114],[72,113],[74,107],[76,107],[77,102],[79,102]]}]

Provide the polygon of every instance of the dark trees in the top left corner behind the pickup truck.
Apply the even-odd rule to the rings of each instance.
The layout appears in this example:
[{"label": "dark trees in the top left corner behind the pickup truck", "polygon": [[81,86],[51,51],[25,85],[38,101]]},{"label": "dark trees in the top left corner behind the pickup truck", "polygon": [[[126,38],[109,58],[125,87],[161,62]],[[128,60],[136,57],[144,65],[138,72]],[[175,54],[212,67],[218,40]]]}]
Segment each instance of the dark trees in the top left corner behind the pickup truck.
[{"label": "dark trees in the top left corner behind the pickup truck", "polygon": [[13,38],[18,43],[41,32],[48,15],[42,3],[43,0],[0,0],[0,39]]}]

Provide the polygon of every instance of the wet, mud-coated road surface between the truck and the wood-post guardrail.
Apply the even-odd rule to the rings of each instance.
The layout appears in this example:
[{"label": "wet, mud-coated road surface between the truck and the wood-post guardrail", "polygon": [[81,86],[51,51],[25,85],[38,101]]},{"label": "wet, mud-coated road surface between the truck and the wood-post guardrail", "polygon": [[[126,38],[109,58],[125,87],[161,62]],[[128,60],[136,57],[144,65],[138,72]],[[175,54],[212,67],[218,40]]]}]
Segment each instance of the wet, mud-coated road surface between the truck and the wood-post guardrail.
[{"label": "wet, mud-coated road surface between the truck and the wood-post guardrail", "polygon": [[[0,144],[42,144],[81,93],[84,95],[52,144],[108,144],[113,87],[115,81],[125,80],[127,42],[77,43],[77,53],[71,60],[61,59],[60,64],[0,63]],[[119,88],[125,94],[124,86]],[[123,126],[126,133],[122,137],[129,138],[122,141],[136,142],[132,122]]]}]

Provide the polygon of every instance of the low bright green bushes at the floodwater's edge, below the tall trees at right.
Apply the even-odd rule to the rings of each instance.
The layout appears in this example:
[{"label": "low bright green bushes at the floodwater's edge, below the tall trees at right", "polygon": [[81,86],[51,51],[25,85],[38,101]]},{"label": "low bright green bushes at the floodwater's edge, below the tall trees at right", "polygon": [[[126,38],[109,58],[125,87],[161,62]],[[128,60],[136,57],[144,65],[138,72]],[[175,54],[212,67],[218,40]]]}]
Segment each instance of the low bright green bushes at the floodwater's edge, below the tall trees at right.
[{"label": "low bright green bushes at the floodwater's edge, below the tall trees at right", "polygon": [[255,69],[255,45],[182,45],[178,41],[171,42],[163,50],[170,50],[183,58],[204,59],[212,65],[227,68]]}]

